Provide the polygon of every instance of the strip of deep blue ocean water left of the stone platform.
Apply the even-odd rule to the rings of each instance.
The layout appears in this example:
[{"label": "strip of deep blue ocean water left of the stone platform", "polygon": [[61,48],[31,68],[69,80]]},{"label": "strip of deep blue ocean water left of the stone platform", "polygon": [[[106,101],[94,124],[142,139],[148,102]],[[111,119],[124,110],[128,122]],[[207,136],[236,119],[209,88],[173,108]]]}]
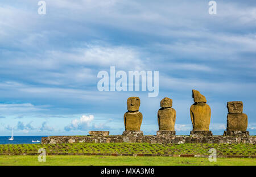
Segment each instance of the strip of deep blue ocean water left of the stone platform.
[{"label": "strip of deep blue ocean water left of the stone platform", "polygon": [[[0,136],[0,144],[40,144],[41,138],[46,136],[14,136],[14,140],[8,140],[7,136]],[[39,140],[40,142],[32,142]]]}]

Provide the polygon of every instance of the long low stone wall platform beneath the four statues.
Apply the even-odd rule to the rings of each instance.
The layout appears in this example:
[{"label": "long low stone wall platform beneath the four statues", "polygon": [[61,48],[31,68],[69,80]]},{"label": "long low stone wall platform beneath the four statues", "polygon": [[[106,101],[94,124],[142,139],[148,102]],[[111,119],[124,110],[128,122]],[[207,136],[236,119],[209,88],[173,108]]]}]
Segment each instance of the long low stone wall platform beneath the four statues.
[{"label": "long low stone wall platform beneath the four statues", "polygon": [[62,143],[110,143],[110,142],[146,142],[150,144],[255,144],[256,136],[51,136],[42,137],[42,144]]}]

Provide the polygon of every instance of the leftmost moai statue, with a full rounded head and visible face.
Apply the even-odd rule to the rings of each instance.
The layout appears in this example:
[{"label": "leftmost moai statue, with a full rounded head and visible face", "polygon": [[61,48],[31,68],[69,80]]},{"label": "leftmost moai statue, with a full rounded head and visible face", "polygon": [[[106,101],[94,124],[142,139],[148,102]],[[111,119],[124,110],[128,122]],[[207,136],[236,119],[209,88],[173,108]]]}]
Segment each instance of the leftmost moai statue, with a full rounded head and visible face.
[{"label": "leftmost moai statue, with a full rounded head and visible face", "polygon": [[139,112],[141,100],[139,97],[130,97],[127,99],[128,111],[123,116],[125,122],[124,136],[142,136],[143,132],[140,131],[142,123],[142,113]]}]

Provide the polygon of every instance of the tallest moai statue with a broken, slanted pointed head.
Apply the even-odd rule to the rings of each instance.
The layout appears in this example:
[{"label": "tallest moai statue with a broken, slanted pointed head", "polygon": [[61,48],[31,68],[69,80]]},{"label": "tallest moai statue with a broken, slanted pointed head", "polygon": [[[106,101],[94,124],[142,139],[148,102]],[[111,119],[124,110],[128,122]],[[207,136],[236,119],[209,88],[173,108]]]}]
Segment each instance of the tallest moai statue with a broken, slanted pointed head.
[{"label": "tallest moai statue with a broken, slanted pointed head", "polygon": [[207,99],[197,90],[192,90],[192,97],[195,103],[190,107],[190,116],[193,124],[191,135],[212,136],[212,132],[209,131],[210,107],[207,104]]}]

